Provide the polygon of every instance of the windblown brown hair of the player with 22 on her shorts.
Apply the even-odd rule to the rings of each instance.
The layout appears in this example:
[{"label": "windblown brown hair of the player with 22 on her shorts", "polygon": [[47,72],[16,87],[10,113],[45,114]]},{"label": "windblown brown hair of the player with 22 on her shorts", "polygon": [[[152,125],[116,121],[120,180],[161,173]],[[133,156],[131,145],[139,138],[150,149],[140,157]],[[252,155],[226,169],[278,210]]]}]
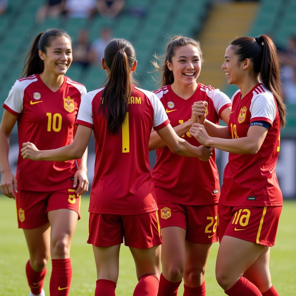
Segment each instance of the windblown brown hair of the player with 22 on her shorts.
[{"label": "windblown brown hair of the player with 22 on her shorts", "polygon": [[[168,84],[172,84],[174,82],[174,75],[173,72],[168,68],[167,61],[170,63],[172,62],[172,57],[176,54],[176,48],[184,45],[193,45],[196,46],[197,49],[200,52],[200,58],[202,62],[202,50],[200,48],[199,41],[189,38],[189,37],[183,37],[183,36],[174,36],[169,43],[167,44],[167,49],[165,52],[165,55],[163,57],[157,56],[157,54],[154,55],[156,61],[151,61],[152,65],[155,67],[156,71],[160,72],[159,77],[156,79],[153,78],[155,81],[160,81],[159,86],[165,86]],[[162,66],[159,66],[157,64],[157,60],[164,61]]]}]

